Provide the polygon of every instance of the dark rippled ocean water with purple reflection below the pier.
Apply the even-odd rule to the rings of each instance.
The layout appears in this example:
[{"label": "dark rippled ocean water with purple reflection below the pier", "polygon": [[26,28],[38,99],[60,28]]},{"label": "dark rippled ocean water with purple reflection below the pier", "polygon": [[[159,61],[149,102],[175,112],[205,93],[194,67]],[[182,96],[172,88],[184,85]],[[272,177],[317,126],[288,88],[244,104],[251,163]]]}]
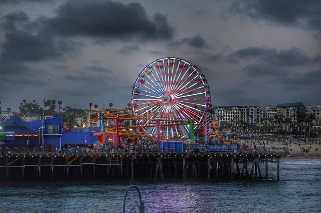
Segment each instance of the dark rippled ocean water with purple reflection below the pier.
[{"label": "dark rippled ocean water with purple reflection below the pier", "polygon": [[[146,212],[321,212],[321,159],[282,159],[279,181],[276,164],[269,164],[269,178],[261,180],[137,182]],[[129,185],[2,183],[0,212],[121,212]],[[126,209],[135,202],[131,191]]]}]

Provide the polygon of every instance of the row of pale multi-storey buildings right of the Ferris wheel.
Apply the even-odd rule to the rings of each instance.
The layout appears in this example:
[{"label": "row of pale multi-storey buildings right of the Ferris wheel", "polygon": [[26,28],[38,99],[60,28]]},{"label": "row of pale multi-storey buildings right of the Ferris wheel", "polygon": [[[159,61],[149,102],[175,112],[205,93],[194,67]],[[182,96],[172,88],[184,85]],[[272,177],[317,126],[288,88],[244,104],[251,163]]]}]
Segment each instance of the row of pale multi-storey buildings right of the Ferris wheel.
[{"label": "row of pale multi-storey buildings right of the Ferris wheel", "polygon": [[301,122],[313,118],[314,129],[321,129],[321,104],[304,106],[301,102],[282,103],[276,106],[213,106],[210,120],[237,125],[239,121],[248,124],[274,124],[278,128],[291,131]]}]

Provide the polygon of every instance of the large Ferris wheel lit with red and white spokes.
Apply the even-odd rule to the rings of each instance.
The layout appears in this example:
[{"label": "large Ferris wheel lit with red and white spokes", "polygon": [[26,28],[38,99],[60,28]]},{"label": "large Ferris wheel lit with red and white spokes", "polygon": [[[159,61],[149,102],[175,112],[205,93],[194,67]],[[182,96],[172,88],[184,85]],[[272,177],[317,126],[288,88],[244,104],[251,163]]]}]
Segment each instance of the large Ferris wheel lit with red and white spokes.
[{"label": "large Ferris wheel lit with red and white spokes", "polygon": [[132,89],[132,109],[145,134],[155,135],[162,120],[164,138],[188,137],[190,127],[177,120],[203,124],[210,88],[204,74],[191,62],[162,58],[151,62],[138,75]]}]

